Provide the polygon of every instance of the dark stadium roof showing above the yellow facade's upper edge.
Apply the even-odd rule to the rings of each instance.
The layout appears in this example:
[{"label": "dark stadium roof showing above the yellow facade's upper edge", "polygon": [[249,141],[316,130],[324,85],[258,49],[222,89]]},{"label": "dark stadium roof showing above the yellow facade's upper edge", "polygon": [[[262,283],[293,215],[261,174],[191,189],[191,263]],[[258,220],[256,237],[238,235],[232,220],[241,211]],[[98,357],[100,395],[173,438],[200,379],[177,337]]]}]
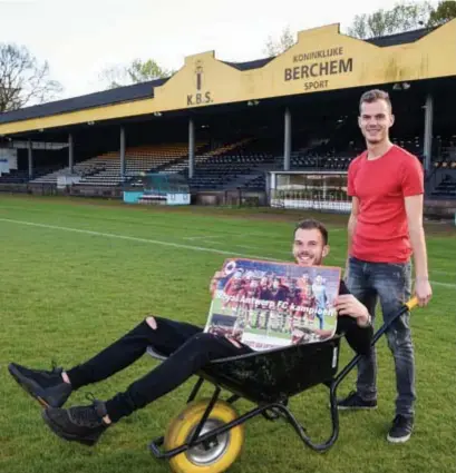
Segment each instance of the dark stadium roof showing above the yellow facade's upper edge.
[{"label": "dark stadium roof showing above the yellow facade's upper edge", "polygon": [[[407,31],[398,35],[390,35],[379,38],[366,40],[371,45],[382,47],[406,45],[415,42],[433,31],[429,28],[423,28],[415,31]],[[273,57],[256,59],[248,62],[227,62],[222,61],[240,71],[259,69],[270,62]],[[33,107],[26,107],[20,110],[0,114],[0,124],[9,124],[13,121],[28,120],[32,118],[48,117],[69,111],[84,110],[93,107],[100,107],[106,105],[115,105],[120,102],[140,100],[154,97],[154,88],[165,83],[168,78],[157,79],[147,82],[136,83],[133,86],[119,87],[111,90],[104,90],[100,92],[89,93],[86,96],[74,97],[70,99],[52,101]]]}]

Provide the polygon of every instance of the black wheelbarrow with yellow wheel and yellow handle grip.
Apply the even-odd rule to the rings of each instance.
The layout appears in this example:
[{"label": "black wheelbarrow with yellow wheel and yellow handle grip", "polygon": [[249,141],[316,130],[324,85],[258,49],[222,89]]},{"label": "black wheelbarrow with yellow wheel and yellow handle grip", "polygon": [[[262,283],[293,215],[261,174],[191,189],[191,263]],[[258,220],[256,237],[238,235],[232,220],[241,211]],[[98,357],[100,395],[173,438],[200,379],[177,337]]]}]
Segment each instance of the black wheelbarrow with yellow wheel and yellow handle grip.
[{"label": "black wheelbarrow with yellow wheel and yellow handle grip", "polygon": [[[416,307],[416,297],[404,304],[396,316],[373,335],[371,344],[385,334],[389,325]],[[165,434],[151,442],[155,457],[168,460],[174,473],[222,473],[239,457],[244,444],[244,423],[258,415],[268,421],[284,418],[298,436],[317,452],[328,451],[339,435],[337,388],[353,369],[361,355],[356,355],[339,373],[341,336],[312,343],[253,352],[215,359],[197,373],[186,407],[169,423]],[[156,359],[166,357],[152,347]],[[213,384],[211,398],[196,400],[204,382]],[[288,407],[290,397],[316,385],[329,388],[332,430],[323,443],[313,442]],[[222,390],[231,395],[221,400]],[[255,407],[240,415],[233,407],[239,400]]]}]

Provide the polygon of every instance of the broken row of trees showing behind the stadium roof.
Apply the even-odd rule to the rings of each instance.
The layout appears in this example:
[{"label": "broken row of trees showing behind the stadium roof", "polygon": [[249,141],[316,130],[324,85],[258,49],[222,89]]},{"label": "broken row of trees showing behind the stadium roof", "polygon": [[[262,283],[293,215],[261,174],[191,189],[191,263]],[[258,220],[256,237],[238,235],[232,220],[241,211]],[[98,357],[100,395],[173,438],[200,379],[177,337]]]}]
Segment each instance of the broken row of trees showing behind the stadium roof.
[{"label": "broken row of trees showing behind the stadium roof", "polygon": [[[420,28],[434,28],[456,18],[456,1],[402,1],[389,10],[357,14],[346,31],[359,39],[377,38]],[[295,43],[290,28],[278,38],[270,36],[263,52],[275,57]],[[105,68],[99,80],[106,89],[171,77],[154,59],[134,59],[127,65]],[[59,98],[64,88],[50,78],[49,63],[40,62],[26,47],[0,42],[0,114]]]}]

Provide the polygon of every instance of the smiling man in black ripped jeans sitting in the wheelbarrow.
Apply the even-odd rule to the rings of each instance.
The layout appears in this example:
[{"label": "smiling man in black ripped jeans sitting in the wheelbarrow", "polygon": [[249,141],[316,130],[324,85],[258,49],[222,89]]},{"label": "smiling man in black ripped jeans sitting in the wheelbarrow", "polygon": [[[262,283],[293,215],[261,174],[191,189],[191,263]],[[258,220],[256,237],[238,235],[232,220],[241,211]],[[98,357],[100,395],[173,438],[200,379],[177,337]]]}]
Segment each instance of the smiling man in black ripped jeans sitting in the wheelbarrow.
[{"label": "smiling man in black ripped jeans sitting in the wheelbarrow", "polygon": [[[321,265],[329,253],[328,231],[316,220],[298,224],[293,256],[300,266]],[[217,275],[216,275],[217,276]],[[213,280],[212,288],[216,283]],[[337,333],[345,333],[350,346],[367,353],[372,326],[367,308],[340,283]],[[125,392],[89,406],[61,408],[72,392],[106,380],[133,364],[148,346],[167,358],[135,381]],[[149,316],[86,363],[70,369],[30,369],[16,363],[9,365],[14,380],[47,408],[43,420],[60,437],[94,445],[99,436],[120,418],[169,393],[187,381],[208,362],[250,353],[252,349],[223,335],[204,333],[187,323]]]}]

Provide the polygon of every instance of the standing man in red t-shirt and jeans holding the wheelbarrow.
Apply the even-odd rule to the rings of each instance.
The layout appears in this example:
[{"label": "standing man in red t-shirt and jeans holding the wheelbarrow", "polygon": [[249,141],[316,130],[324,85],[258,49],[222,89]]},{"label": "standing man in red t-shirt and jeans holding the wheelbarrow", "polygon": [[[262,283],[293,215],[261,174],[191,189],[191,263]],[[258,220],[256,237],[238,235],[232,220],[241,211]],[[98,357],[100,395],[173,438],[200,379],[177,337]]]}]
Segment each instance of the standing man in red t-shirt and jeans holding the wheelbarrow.
[{"label": "standing man in red t-shirt and jeans holding the wheelbarrow", "polygon": [[[411,263],[415,294],[425,306],[431,297],[423,228],[424,175],[419,160],[389,140],[394,124],[387,92],[371,90],[360,100],[359,127],[367,150],[348,170],[352,209],[348,224],[347,286],[373,317],[380,299],[387,322],[410,297]],[[409,314],[387,332],[396,367],[396,416],[388,441],[409,440],[414,427],[415,359]],[[339,401],[340,410],[376,408],[376,352],[358,365],[357,391]]]}]

